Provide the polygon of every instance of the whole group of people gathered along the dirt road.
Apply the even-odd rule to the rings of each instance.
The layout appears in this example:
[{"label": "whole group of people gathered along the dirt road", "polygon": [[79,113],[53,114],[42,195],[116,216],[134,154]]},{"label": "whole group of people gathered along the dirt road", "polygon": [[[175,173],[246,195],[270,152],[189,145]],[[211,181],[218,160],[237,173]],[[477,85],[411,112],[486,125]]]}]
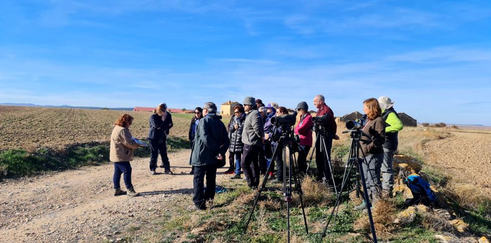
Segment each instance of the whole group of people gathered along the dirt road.
[{"label": "whole group of people gathered along the dirt road", "polygon": [[[333,186],[335,183],[331,176],[329,166],[332,140],[338,140],[337,126],[332,109],[325,103],[325,98],[317,95],[313,98],[313,105],[317,108],[316,116],[325,116],[322,123],[313,122],[308,110],[307,102],[300,102],[296,111],[300,121],[293,131],[298,137],[302,149],[298,151],[298,169],[305,174],[307,171],[307,154],[315,144],[315,162],[317,165],[317,180]],[[363,110],[367,114],[367,123],[363,127],[365,139],[362,139],[361,149],[366,158],[363,170],[368,188],[368,195],[372,202],[380,197],[390,196],[393,187],[392,160],[397,150],[398,131],[403,129],[401,120],[393,108],[389,97],[369,98],[363,102]],[[283,145],[279,144],[278,133],[281,128],[271,123],[274,116],[289,114],[284,106],[275,102],[264,104],[261,99],[245,97],[242,104],[234,107],[234,115],[225,126],[221,116],[217,115],[217,106],[207,102],[203,107],[196,107],[189,126],[188,139],[191,146],[189,164],[193,174],[193,205],[192,209],[206,209],[206,202],[215,195],[217,168],[225,165],[225,154],[229,151],[229,169],[226,174],[233,174],[231,179],[241,179],[245,176],[247,186],[257,190],[259,177],[265,174],[271,163],[276,161],[276,173],[271,171],[270,176],[274,182],[283,181]],[[136,195],[131,184],[131,166],[129,161],[133,157],[133,149],[138,145],[132,140],[129,133],[132,117],[124,114],[116,122],[111,136],[111,156],[115,162],[114,188],[115,195]],[[151,150],[150,171],[155,174],[157,157],[160,152],[164,173],[172,174],[167,157],[166,140],[169,129],[172,128],[172,116],[167,112],[167,105],[160,104],[150,117],[149,144]],[[321,127],[321,129],[319,129]],[[316,135],[322,133],[325,146],[313,141],[312,131]],[[317,137],[317,136],[316,136]],[[273,151],[278,150],[273,158]],[[272,168],[275,165],[271,165]],[[120,188],[120,178],[123,179],[127,193]],[[206,190],[204,178],[206,177]],[[383,182],[381,180],[383,179]],[[358,210],[366,209],[365,203],[355,207]]]}]

